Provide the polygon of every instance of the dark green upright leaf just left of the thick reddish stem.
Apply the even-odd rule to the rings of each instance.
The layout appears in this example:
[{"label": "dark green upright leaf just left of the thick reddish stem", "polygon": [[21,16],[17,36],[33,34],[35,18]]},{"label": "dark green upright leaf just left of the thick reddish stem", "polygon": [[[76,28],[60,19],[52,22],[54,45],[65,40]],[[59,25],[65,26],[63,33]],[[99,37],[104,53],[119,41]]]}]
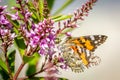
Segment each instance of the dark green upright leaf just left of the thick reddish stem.
[{"label": "dark green upright leaf just left of the thick reddish stem", "polygon": [[7,53],[8,54],[8,62],[9,62],[9,66],[12,71],[12,74],[14,73],[14,67],[15,67],[15,53],[16,53],[15,49],[10,49]]}]

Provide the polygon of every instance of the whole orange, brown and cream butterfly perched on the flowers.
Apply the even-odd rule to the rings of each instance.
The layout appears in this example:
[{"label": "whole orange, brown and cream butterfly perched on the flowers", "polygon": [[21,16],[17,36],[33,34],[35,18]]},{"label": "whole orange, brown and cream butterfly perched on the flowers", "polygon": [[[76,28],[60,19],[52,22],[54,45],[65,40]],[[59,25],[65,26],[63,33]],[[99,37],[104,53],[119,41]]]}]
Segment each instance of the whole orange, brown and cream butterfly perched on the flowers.
[{"label": "whole orange, brown and cream butterfly perched on the flowers", "polygon": [[106,35],[88,35],[69,37],[63,44],[63,57],[74,72],[83,72],[85,68],[98,65],[101,59],[93,52],[107,39]]}]

